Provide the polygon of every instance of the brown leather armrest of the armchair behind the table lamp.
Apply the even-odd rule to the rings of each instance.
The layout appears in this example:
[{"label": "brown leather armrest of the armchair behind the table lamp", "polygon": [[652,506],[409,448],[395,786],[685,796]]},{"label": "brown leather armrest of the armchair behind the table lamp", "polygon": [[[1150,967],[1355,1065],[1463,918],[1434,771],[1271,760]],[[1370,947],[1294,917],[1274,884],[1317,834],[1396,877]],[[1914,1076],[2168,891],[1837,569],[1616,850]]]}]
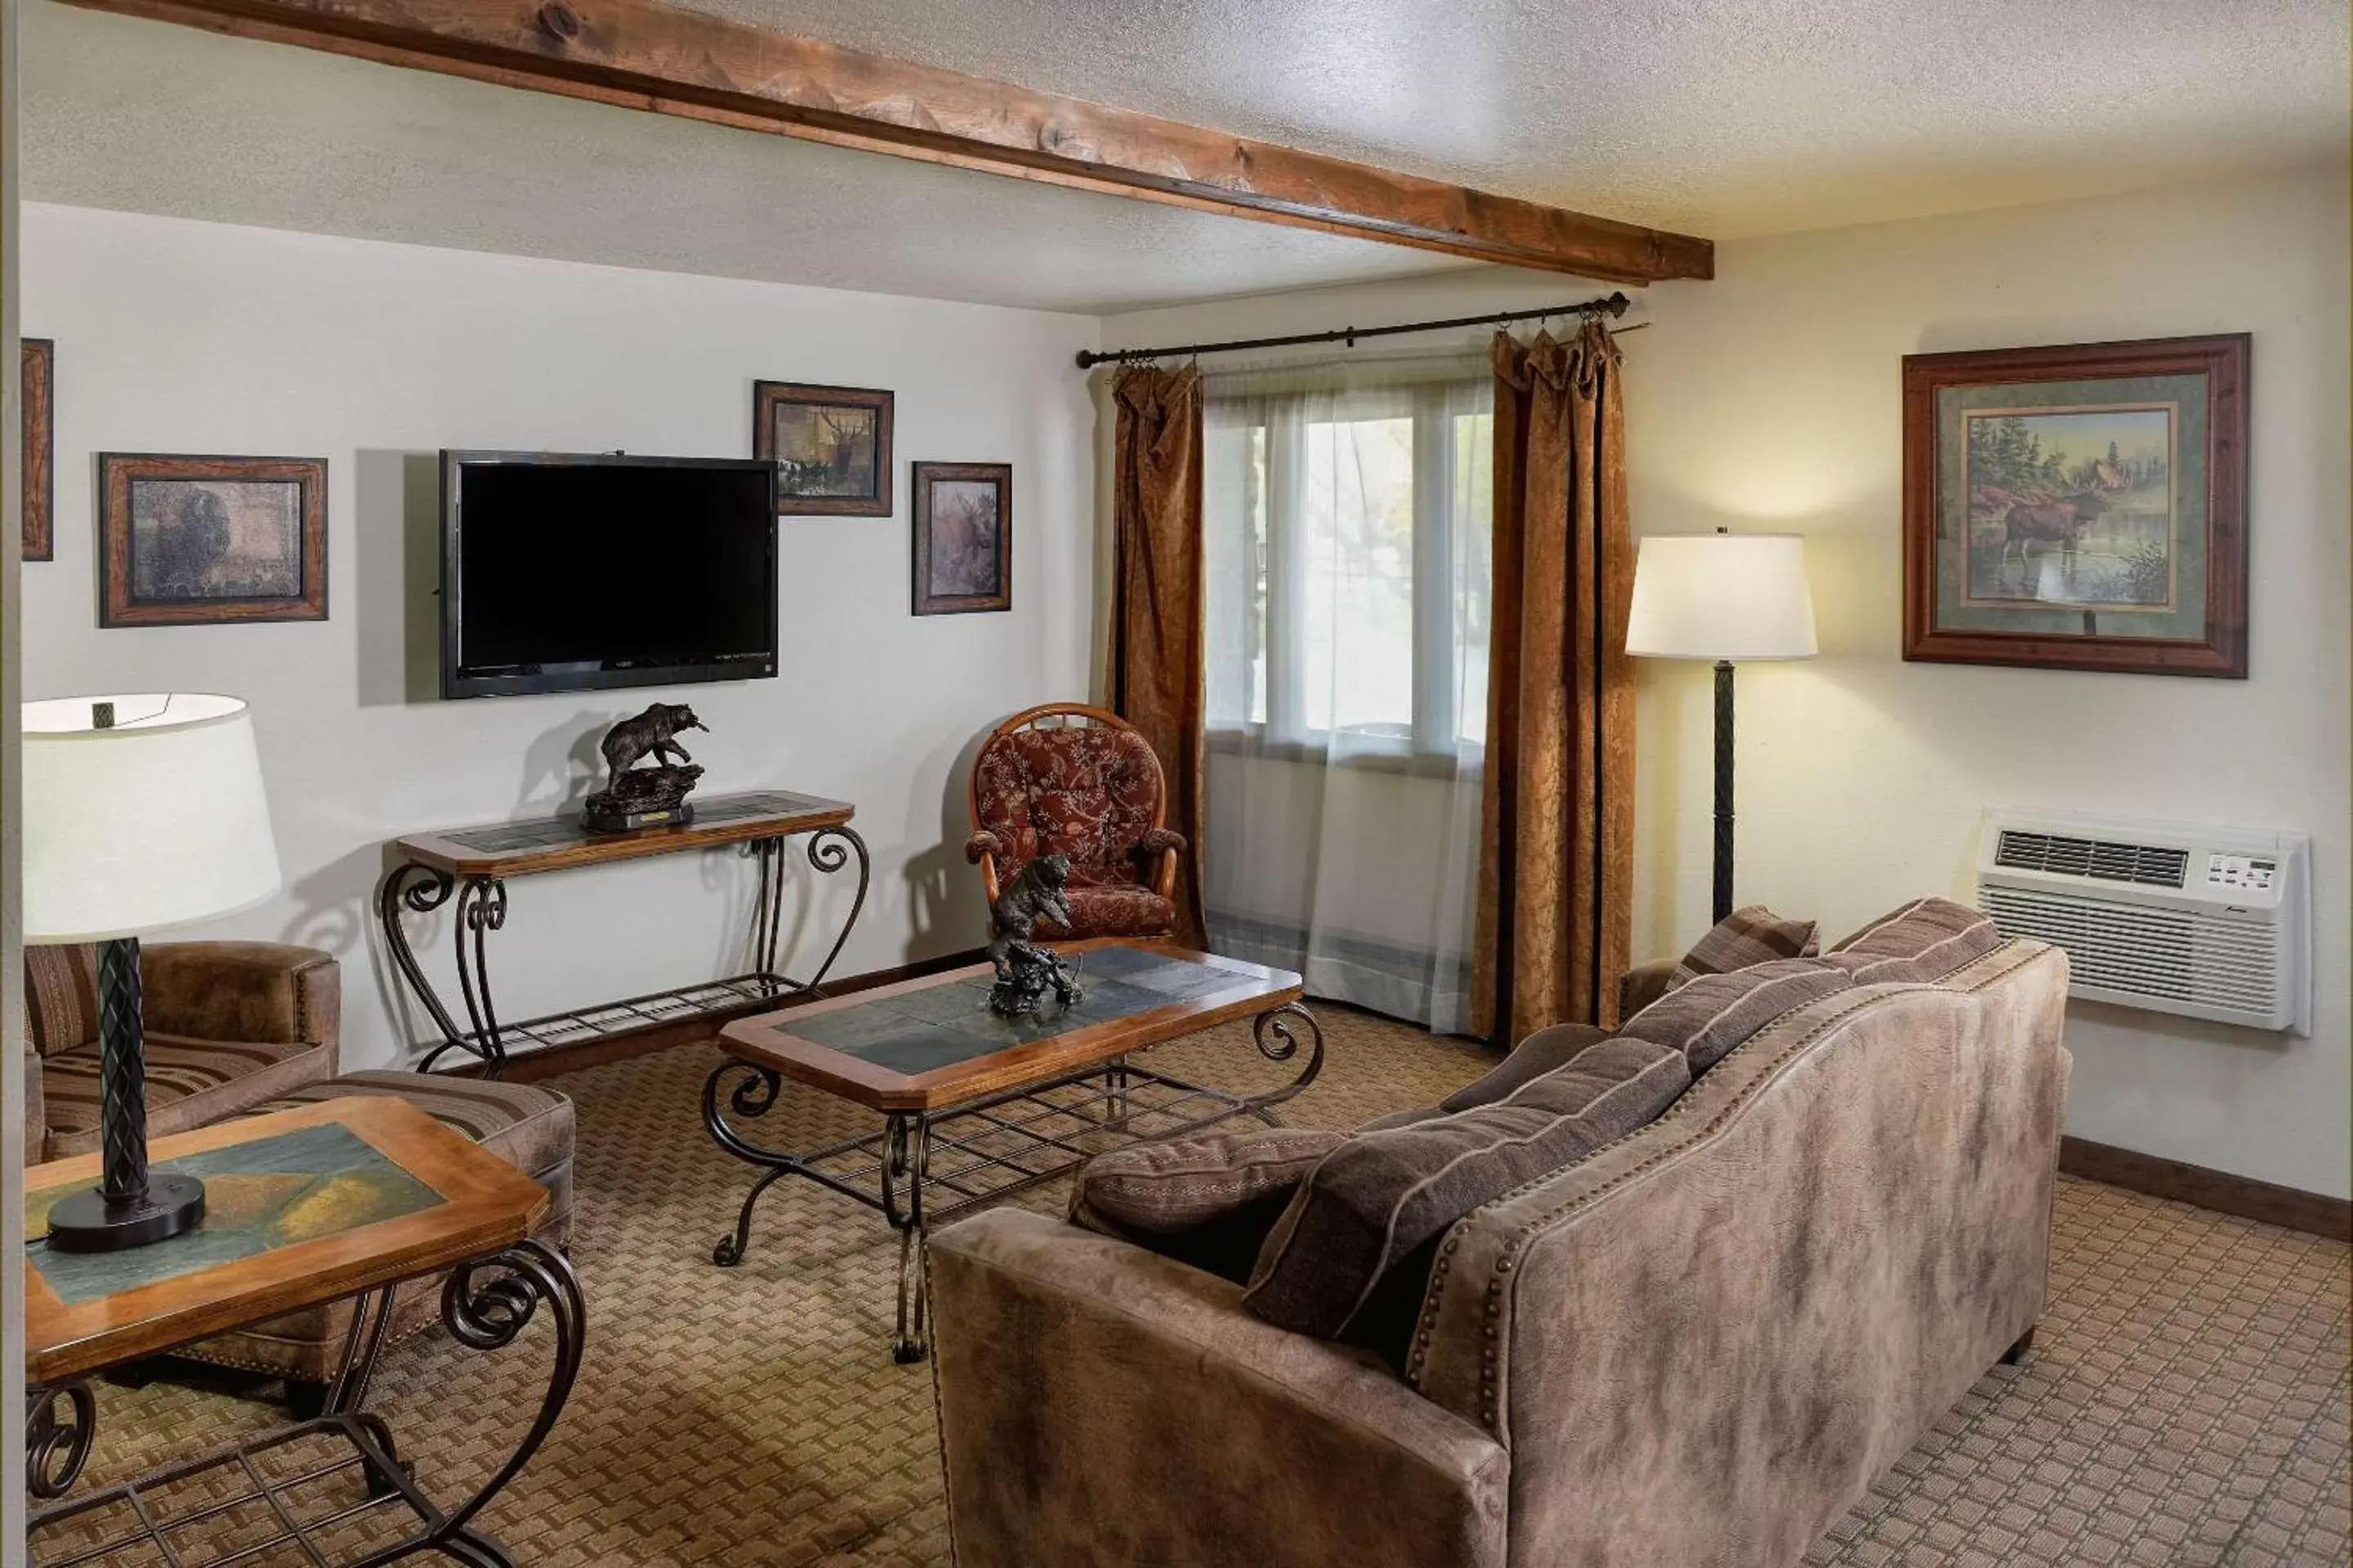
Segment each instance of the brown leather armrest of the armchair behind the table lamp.
[{"label": "brown leather armrest of the armchair behind the table lamp", "polygon": [[[146,943],[144,1020],[158,1034],[268,1044],[341,1039],[344,971],[318,947],[287,943]],[[327,1074],[334,1074],[329,1060]]]}]

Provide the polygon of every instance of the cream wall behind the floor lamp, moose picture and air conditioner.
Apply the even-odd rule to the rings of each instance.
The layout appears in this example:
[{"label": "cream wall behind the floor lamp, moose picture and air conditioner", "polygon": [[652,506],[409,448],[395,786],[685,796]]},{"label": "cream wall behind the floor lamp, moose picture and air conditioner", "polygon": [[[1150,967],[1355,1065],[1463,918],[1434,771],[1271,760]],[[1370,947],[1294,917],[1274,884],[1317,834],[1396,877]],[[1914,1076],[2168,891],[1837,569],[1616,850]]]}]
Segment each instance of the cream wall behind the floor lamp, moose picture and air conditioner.
[{"label": "cream wall behind the floor lamp, moose picture and air conditioner", "polygon": [[[1824,656],[1741,672],[1744,898],[1845,931],[1967,896],[1991,804],[2294,827],[2311,1039],[2073,1009],[2068,1128],[2344,1197],[2348,1180],[2346,169],[1744,240],[1626,339],[1640,531],[1807,534]],[[1574,280],[1337,289],[1104,322],[1104,346],[1581,299]],[[1906,353],[2254,334],[2247,682],[1904,663]],[[1645,665],[1635,947],[1708,922],[1708,675]]]}]

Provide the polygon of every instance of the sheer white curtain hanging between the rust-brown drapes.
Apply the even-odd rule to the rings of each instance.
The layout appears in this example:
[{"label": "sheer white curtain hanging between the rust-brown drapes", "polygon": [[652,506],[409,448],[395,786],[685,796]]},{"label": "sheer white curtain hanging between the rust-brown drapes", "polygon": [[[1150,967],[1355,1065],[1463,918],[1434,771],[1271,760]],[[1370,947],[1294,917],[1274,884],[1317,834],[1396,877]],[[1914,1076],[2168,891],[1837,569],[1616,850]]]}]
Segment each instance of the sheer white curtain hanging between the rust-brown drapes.
[{"label": "sheer white curtain hanging between the rust-brown drapes", "polygon": [[1487,729],[1480,357],[1205,378],[1217,952],[1468,1030]]}]

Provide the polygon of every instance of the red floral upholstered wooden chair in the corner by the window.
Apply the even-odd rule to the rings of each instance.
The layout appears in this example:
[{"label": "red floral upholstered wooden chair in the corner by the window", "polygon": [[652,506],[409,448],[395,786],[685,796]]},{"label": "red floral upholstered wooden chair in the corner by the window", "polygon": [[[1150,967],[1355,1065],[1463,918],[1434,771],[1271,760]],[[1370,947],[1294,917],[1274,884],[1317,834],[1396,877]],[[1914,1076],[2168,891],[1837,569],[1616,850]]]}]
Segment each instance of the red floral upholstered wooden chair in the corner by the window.
[{"label": "red floral upholstered wooden chair in the corner by the window", "polygon": [[1071,929],[1052,940],[1167,936],[1176,929],[1176,856],[1162,827],[1160,759],[1127,719],[1047,703],[998,724],[972,762],[972,839],[988,903],[1038,856],[1071,856]]}]

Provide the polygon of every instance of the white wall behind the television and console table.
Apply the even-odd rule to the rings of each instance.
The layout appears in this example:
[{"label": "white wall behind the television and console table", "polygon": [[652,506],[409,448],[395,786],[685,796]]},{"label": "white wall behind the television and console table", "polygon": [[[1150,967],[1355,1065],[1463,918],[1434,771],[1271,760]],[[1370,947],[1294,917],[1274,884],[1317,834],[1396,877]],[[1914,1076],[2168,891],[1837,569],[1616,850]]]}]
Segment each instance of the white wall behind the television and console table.
[{"label": "white wall behind the television and console table", "polygon": [[[875,884],[838,973],[984,938],[955,853],[962,759],[1002,715],[1082,696],[1092,668],[1094,414],[1071,367],[1089,317],[71,207],[24,219],[24,329],[56,339],[56,559],[24,574],[24,691],[254,703],[287,891],[205,933],[336,952],[348,1065],[424,1037],[369,914],[384,842],[576,799],[602,726],[656,696],[711,726],[689,736],[706,792],[856,804]],[[755,378],[899,395],[896,515],[779,522],[784,675],[433,701],[433,451],[748,456]],[[327,458],[329,621],[99,630],[92,454],[108,449]],[[1012,614],[908,616],[913,458],[1014,465]],[[501,1013],[741,971],[751,872],[713,851],[515,882],[492,938]],[[793,973],[847,910],[840,877],[805,907],[816,882],[802,865],[791,891]],[[449,987],[447,912],[412,936]]]}]

